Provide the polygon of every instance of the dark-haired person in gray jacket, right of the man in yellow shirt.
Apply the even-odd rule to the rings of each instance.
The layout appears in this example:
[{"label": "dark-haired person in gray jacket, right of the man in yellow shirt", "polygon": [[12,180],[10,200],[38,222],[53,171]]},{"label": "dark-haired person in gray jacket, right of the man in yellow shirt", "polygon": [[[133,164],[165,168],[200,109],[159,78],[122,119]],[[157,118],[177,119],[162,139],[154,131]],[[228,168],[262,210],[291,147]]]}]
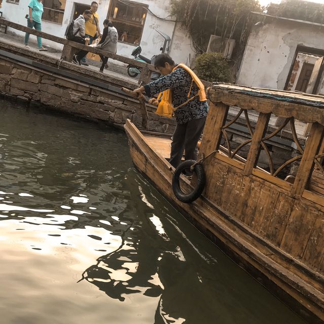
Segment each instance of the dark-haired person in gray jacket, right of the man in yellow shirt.
[{"label": "dark-haired person in gray jacket, right of the man in yellow shirt", "polygon": [[[102,38],[99,44],[96,46],[99,50],[104,50],[113,54],[117,53],[117,43],[118,43],[118,32],[115,27],[113,27],[112,22],[108,19],[105,19],[103,22],[103,32]],[[108,57],[100,54],[100,58],[102,60],[102,65],[100,67],[100,72],[103,72],[104,67],[107,66]]]}]

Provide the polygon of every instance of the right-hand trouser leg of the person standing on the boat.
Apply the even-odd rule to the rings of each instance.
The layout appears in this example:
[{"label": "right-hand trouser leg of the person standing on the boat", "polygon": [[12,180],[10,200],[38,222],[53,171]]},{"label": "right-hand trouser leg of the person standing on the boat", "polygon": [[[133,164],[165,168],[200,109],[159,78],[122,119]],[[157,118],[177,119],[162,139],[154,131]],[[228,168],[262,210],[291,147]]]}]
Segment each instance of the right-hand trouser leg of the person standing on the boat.
[{"label": "right-hand trouser leg of the person standing on the boat", "polygon": [[206,117],[188,121],[184,138],[185,160],[197,159],[197,143],[203,133],[205,122]]}]

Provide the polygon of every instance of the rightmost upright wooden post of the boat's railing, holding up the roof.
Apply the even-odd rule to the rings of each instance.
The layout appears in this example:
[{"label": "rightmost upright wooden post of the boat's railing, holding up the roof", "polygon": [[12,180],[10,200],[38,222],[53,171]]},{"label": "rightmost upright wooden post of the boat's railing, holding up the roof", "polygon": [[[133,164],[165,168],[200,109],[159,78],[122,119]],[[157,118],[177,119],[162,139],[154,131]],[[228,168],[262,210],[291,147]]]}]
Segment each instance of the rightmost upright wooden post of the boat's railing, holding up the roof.
[{"label": "rightmost upright wooden post of the boat's railing, holding up the roof", "polygon": [[313,123],[311,127],[309,137],[305,144],[303,157],[300,161],[299,169],[292,188],[292,195],[295,198],[300,198],[304,192],[314,165],[314,158],[322,143],[323,130],[324,127],[318,123]]}]

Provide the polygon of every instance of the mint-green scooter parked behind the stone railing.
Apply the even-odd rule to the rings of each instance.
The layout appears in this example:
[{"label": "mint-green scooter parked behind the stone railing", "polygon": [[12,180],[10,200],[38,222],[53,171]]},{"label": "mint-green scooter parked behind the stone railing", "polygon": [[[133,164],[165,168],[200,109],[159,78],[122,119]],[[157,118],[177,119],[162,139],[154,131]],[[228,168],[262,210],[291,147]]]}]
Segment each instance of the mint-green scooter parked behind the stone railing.
[{"label": "mint-green scooter parked behind the stone railing", "polygon": [[[165,53],[166,51],[167,51],[167,53],[169,53],[169,46],[167,47],[167,45],[170,44],[171,38],[167,34],[161,32],[161,31],[159,31],[157,29],[155,29],[155,30],[165,39],[163,47],[160,48],[161,53]],[[151,59],[148,59],[145,56],[141,55],[141,52],[142,52],[142,48],[140,46],[137,46],[133,50],[133,52],[132,52],[132,56],[134,56],[134,59],[136,61],[139,61],[139,62],[153,64],[154,65],[154,59],[155,59],[155,56],[156,55],[153,55],[151,57]],[[127,66],[127,73],[128,73],[128,75],[130,77],[136,77],[138,74],[141,73],[141,68],[129,64]],[[161,74],[159,74],[157,72],[152,72],[152,74],[151,74],[151,80],[157,80],[160,76],[161,76]]]}]

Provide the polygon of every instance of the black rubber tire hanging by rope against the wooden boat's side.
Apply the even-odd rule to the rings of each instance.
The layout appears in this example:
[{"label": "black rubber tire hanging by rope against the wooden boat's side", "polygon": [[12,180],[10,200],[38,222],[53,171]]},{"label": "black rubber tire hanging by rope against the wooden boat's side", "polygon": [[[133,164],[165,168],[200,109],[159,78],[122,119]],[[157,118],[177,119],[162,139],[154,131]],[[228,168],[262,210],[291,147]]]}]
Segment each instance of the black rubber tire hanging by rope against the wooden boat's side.
[{"label": "black rubber tire hanging by rope against the wooden boat's side", "polygon": [[186,169],[189,169],[194,163],[195,160],[186,160],[178,166],[175,170],[173,177],[172,177],[172,189],[175,196],[182,201],[182,203],[192,203],[192,201],[196,200],[200,197],[201,193],[203,192],[206,184],[206,176],[203,165],[197,164],[195,165],[193,172],[196,174],[197,181],[196,187],[190,193],[184,193],[180,188],[180,175]]}]

